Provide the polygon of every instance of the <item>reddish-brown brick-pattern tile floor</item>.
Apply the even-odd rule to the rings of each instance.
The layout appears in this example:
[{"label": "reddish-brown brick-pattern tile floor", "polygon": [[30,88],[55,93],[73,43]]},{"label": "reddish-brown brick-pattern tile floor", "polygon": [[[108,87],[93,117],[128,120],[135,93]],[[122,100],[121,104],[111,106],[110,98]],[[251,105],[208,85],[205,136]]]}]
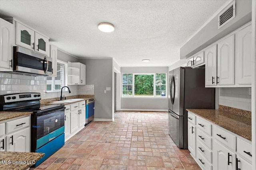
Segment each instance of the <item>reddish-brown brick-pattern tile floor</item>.
[{"label": "reddish-brown brick-pattern tile floor", "polygon": [[200,170],[188,150],[168,135],[168,112],[118,111],[95,121],[36,169]]}]

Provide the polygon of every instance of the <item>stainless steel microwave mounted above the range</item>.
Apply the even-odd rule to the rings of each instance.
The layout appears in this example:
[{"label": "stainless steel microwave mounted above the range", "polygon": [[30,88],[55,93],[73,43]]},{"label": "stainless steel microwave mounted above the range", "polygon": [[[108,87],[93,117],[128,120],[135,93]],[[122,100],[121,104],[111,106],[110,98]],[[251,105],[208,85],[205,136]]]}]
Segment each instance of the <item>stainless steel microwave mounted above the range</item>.
[{"label": "stainless steel microwave mounted above the range", "polygon": [[52,75],[52,58],[29,49],[13,47],[13,72],[26,75]]}]

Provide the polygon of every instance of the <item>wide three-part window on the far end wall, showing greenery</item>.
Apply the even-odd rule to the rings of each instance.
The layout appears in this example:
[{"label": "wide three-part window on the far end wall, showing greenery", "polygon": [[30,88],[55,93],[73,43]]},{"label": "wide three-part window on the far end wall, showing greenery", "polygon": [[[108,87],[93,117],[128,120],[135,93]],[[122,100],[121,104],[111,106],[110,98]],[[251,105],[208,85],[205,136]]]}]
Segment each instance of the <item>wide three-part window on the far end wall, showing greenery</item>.
[{"label": "wide three-part window on the far end wall, showing greenery", "polygon": [[122,74],[122,96],[166,96],[166,73]]}]

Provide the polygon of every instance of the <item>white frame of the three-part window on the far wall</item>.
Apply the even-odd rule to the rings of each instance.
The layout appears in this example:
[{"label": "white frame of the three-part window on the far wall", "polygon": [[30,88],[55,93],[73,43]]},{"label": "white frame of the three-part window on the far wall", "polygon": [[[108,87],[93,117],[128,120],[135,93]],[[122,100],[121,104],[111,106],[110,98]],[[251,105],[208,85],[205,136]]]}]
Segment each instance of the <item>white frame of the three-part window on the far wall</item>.
[{"label": "white frame of the three-part window on the far wall", "polygon": [[[123,87],[123,74],[132,74],[132,96],[123,96],[123,88],[121,88],[121,98],[159,98],[159,99],[163,99],[163,98],[167,98],[167,73],[166,72],[156,72],[156,73],[122,73],[122,79],[121,79],[121,87]],[[134,96],[134,78],[135,78],[135,75],[154,75],[154,96]],[[165,77],[165,81],[166,81],[166,95],[165,96],[156,96],[156,74],[166,74],[166,77]]]}]

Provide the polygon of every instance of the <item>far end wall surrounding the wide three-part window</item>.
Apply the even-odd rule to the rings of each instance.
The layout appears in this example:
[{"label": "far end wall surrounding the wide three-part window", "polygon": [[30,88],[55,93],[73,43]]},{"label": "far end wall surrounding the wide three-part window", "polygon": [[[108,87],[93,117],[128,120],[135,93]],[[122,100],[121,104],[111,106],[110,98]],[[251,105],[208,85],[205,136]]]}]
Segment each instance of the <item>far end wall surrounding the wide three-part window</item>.
[{"label": "far end wall surrounding the wide three-part window", "polygon": [[121,67],[122,73],[166,73],[166,98],[121,98],[121,110],[167,110],[168,67]]}]

